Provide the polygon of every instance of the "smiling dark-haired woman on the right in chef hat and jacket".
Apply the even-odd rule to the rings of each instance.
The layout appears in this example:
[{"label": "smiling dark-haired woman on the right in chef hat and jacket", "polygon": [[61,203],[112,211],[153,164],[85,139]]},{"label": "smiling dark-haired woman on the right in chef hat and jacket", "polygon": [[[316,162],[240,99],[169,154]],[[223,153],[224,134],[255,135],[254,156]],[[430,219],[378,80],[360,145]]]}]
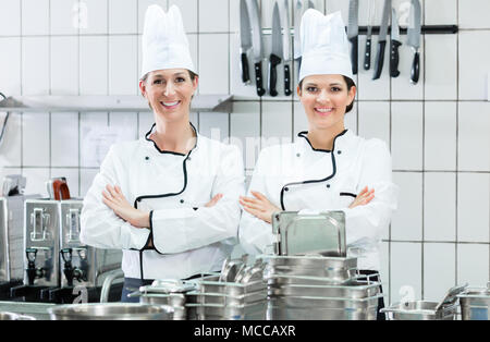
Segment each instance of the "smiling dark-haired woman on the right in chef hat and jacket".
[{"label": "smiling dark-haired woman on the right in chef hat and jacket", "polygon": [[301,38],[297,95],[309,130],[296,143],[260,152],[248,196],[241,198],[240,242],[248,253],[268,252],[277,211],[343,210],[347,255],[358,258],[363,273],[376,273],[381,236],[396,208],[390,151],[384,142],[345,129],[356,87],[340,12],[306,11]]}]

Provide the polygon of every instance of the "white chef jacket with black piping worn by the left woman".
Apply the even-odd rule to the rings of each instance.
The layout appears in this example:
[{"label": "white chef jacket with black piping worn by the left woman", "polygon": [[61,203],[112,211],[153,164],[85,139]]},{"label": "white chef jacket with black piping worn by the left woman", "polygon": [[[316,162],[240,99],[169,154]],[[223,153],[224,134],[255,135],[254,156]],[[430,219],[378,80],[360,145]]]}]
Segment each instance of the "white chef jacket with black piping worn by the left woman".
[{"label": "white chef jacket with black piping worn by the left woman", "polygon": [[[149,139],[111,146],[84,199],[81,240],[123,249],[127,278],[185,279],[220,270],[236,244],[245,193],[242,154],[197,134],[187,154],[161,151]],[[193,127],[194,129],[194,127]],[[102,203],[106,185],[119,185],[135,208],[150,212],[150,229],[138,229]],[[215,195],[223,197],[204,207]],[[152,237],[155,249],[145,249]]]}]

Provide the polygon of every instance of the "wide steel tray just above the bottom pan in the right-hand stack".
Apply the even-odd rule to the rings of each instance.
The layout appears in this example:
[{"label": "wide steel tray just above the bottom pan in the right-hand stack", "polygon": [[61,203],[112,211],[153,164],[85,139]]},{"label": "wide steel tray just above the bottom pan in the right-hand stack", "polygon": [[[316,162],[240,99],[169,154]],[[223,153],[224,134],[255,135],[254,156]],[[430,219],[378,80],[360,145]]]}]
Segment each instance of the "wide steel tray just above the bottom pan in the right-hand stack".
[{"label": "wide steel tray just above the bottom pan in the right-hand stack", "polygon": [[317,296],[341,298],[366,298],[380,293],[381,283],[366,283],[350,281],[344,285],[315,285],[315,284],[281,284],[270,285],[268,294],[271,296]]}]

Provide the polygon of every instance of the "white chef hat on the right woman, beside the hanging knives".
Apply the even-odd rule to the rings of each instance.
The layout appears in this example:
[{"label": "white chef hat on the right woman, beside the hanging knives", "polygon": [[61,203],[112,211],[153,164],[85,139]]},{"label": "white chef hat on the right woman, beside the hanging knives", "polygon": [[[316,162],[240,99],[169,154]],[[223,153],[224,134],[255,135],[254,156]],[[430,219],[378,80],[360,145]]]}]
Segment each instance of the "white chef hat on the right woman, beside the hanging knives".
[{"label": "white chef hat on the right woman, beside the hanging knives", "polygon": [[307,10],[302,17],[301,39],[299,81],[322,74],[339,74],[354,80],[341,12],[323,15],[317,10]]}]

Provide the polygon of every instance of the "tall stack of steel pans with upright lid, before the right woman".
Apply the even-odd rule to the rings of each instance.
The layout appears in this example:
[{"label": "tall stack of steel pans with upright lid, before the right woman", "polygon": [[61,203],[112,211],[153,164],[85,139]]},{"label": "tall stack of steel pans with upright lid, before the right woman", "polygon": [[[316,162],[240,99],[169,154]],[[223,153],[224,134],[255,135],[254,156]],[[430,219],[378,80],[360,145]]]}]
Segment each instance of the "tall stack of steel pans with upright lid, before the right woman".
[{"label": "tall stack of steel pans with upright lid, before the right woman", "polygon": [[346,257],[342,211],[273,217],[274,255],[267,262],[267,319],[375,320],[379,282],[362,281]]}]

